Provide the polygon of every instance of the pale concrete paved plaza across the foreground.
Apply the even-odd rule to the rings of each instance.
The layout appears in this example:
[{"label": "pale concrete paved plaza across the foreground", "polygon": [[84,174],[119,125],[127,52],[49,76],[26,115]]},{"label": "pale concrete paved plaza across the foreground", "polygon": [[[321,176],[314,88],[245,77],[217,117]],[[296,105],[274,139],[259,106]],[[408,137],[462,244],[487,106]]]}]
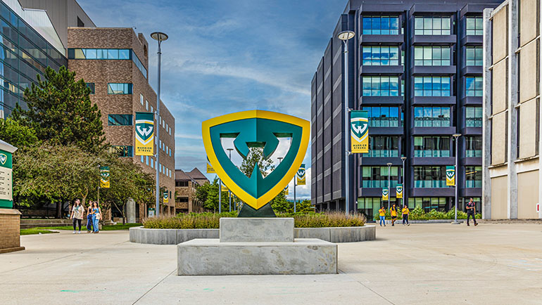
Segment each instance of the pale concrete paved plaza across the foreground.
[{"label": "pale concrete paved plaza across the foreground", "polygon": [[540,304],[542,225],[413,224],[339,244],[339,274],[179,277],[173,245],[127,231],[26,235],[0,304]]}]

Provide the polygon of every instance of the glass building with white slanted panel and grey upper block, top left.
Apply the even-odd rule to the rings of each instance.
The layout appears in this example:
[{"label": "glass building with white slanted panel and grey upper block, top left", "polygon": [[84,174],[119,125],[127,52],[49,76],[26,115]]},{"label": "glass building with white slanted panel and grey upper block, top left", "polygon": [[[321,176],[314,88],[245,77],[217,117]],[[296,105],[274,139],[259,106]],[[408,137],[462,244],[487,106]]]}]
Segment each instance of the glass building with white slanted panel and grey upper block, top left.
[{"label": "glass building with white slanted panel and grey upper block, top left", "polygon": [[[50,18],[56,12],[63,12],[63,18]],[[0,1],[0,118],[8,117],[17,103],[26,108],[23,93],[37,84],[37,75],[43,76],[46,67],[68,66],[65,30],[77,20],[94,26],[75,0]]]}]

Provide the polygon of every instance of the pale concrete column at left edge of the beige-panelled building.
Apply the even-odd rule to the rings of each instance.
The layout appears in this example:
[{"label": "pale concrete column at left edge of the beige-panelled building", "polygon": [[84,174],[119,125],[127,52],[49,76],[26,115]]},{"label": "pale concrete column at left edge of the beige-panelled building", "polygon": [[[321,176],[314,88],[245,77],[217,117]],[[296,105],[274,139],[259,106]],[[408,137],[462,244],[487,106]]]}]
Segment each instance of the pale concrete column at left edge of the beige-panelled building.
[{"label": "pale concrete column at left edge of the beige-panelled building", "polygon": [[482,108],[482,160],[481,168],[482,181],[481,181],[481,217],[483,219],[491,219],[491,176],[489,175],[489,166],[491,165],[491,67],[493,63],[492,59],[492,45],[493,39],[493,27],[490,16],[493,8],[484,9],[484,95],[482,100],[484,107]]}]

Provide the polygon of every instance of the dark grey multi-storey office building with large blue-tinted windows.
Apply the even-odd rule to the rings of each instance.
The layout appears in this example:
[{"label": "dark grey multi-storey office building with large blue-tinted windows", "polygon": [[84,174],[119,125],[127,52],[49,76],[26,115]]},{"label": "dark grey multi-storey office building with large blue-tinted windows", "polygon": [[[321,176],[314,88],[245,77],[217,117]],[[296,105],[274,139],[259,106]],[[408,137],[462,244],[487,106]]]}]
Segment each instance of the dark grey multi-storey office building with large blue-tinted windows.
[{"label": "dark grey multi-storey office building with large blue-tinted windows", "polygon": [[[369,114],[370,152],[349,157],[350,210],[369,219],[391,180],[390,202],[447,211],[455,188],[446,166],[458,140],[459,209],[474,197],[481,210],[484,1],[349,1],[311,84],[312,194],[317,209],[345,209],[344,60],[348,107]],[[404,173],[401,170],[405,157]],[[388,167],[386,164],[391,163]],[[403,200],[395,187],[403,183]]]}]

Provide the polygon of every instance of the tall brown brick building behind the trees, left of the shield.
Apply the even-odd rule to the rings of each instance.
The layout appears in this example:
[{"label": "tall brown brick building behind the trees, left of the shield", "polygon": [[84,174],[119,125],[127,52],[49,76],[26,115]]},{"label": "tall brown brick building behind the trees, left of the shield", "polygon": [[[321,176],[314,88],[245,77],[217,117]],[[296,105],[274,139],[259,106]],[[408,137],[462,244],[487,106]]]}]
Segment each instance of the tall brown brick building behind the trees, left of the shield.
[{"label": "tall brown brick building behind the trees, left of the shield", "polygon": [[[134,155],[135,112],[154,112],[156,93],[148,82],[149,44],[132,28],[68,27],[68,68],[92,89],[90,99],[101,110],[106,141],[119,157],[140,164],[149,174],[160,171],[160,188],[175,192],[175,118],[160,102],[160,139],[155,136],[160,163],[155,157]],[[139,205],[139,215],[154,207]],[[175,202],[160,205],[160,215],[175,213]]]}]

